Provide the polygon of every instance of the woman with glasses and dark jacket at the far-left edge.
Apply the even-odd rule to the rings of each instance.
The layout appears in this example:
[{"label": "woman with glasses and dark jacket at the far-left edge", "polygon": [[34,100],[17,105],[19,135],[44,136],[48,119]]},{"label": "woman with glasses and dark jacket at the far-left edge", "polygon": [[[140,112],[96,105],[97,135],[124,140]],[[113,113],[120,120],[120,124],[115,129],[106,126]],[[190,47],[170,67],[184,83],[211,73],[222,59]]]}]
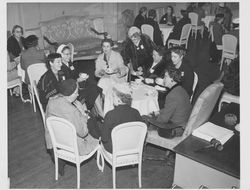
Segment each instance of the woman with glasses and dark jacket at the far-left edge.
[{"label": "woman with glasses and dark jacket at the far-left edge", "polygon": [[20,53],[24,50],[23,28],[15,25],[12,29],[12,35],[7,40],[7,50],[9,52],[10,61],[20,61]]}]

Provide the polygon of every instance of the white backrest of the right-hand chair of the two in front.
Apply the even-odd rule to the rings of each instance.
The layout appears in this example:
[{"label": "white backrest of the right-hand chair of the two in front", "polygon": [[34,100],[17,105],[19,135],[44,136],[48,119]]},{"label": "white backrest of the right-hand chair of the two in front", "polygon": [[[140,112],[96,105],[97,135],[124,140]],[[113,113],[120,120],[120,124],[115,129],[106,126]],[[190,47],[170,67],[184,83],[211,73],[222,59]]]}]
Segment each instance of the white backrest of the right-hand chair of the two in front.
[{"label": "white backrest of the right-hand chair of the two in front", "polygon": [[147,126],[143,122],[127,122],[116,126],[112,132],[113,157],[142,153]]}]

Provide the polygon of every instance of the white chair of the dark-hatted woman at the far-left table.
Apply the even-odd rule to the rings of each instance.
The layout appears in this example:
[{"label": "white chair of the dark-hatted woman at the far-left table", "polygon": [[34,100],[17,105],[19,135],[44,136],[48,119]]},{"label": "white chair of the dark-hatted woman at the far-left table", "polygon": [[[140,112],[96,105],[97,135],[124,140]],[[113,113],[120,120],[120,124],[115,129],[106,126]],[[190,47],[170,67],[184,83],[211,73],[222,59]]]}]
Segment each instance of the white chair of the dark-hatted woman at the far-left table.
[{"label": "white chair of the dark-hatted woman at the far-left table", "polygon": [[47,67],[45,63],[35,63],[28,67],[27,72],[30,79],[30,94],[31,101],[33,103],[34,112],[36,112],[36,102],[34,98],[34,82],[38,83],[41,76],[47,71]]}]

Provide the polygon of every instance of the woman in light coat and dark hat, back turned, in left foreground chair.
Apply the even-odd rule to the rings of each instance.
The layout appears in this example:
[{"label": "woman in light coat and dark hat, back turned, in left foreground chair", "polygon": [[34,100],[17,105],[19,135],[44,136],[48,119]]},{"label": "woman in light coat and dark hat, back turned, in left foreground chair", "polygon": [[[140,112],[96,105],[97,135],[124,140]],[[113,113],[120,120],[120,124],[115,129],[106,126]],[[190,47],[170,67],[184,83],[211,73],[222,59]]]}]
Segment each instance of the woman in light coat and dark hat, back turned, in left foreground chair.
[{"label": "woman in light coat and dark hat, back turned, in left foreground chair", "polygon": [[[81,156],[86,155],[96,148],[98,140],[94,139],[89,134],[87,127],[88,116],[85,113],[85,111],[87,111],[86,106],[76,100],[78,96],[78,85],[76,80],[63,80],[58,84],[58,92],[59,94],[50,98],[48,102],[46,118],[50,116],[56,116],[71,122],[76,128],[79,154]],[[45,139],[48,152],[50,152],[52,156],[52,142],[47,128],[45,130]],[[60,160],[60,175],[64,174],[64,165],[65,162]]]}]

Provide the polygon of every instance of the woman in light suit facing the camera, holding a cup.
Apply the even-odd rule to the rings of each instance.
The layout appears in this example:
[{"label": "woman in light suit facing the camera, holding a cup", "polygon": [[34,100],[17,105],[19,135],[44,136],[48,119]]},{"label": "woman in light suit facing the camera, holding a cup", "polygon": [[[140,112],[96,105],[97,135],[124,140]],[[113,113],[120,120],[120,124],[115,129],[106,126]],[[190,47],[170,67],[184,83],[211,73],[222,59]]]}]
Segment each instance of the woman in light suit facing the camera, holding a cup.
[{"label": "woman in light suit facing the camera, holding a cup", "polygon": [[98,86],[103,89],[103,94],[116,83],[127,81],[128,68],[124,65],[122,56],[112,50],[111,39],[102,40],[103,53],[96,59],[95,76],[100,78]]}]

